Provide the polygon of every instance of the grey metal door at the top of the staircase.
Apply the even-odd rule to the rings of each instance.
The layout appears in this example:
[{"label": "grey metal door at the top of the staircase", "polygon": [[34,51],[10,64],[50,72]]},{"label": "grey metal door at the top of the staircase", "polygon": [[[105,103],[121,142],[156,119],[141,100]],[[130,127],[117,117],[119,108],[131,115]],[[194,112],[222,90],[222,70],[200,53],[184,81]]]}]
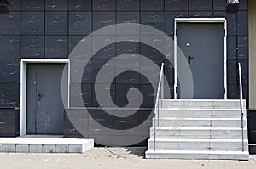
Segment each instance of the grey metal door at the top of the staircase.
[{"label": "grey metal door at the top of the staircase", "polygon": [[[194,99],[224,99],[224,24],[178,23],[177,45],[193,77]],[[182,69],[177,54],[177,71]],[[177,98],[179,96],[177,85]]]}]

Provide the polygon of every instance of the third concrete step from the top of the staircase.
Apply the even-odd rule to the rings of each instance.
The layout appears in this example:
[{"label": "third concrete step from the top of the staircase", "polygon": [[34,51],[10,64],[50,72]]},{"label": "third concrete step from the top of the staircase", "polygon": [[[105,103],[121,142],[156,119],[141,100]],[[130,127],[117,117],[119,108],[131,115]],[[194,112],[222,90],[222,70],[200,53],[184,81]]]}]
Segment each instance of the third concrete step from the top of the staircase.
[{"label": "third concrete step from the top of the staircase", "polygon": [[[241,127],[241,118],[153,118],[157,127]],[[243,126],[247,127],[244,119]]]}]

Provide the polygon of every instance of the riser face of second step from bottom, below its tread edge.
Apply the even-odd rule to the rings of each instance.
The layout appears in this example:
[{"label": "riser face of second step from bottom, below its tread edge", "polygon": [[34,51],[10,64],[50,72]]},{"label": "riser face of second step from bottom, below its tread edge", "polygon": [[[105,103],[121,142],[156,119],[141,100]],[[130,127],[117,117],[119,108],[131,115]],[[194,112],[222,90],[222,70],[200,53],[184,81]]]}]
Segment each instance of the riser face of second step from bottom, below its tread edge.
[{"label": "riser face of second step from bottom, below its tread edge", "polygon": [[[245,143],[247,151],[248,144]],[[148,149],[154,149],[154,141],[148,141]],[[210,151],[241,151],[241,143],[228,142],[158,142],[155,143],[158,150],[210,150]]]}]

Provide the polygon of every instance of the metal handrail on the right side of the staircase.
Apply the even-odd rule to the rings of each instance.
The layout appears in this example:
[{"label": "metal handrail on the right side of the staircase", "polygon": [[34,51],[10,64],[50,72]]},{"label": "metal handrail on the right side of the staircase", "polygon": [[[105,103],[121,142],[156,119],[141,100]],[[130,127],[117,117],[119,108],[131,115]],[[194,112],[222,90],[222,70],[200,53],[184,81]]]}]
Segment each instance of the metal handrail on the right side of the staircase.
[{"label": "metal handrail on the right side of the staircase", "polygon": [[241,82],[241,63],[238,63],[240,109],[241,109],[241,150],[244,151],[244,128],[243,128],[243,101],[242,101],[242,82]]}]

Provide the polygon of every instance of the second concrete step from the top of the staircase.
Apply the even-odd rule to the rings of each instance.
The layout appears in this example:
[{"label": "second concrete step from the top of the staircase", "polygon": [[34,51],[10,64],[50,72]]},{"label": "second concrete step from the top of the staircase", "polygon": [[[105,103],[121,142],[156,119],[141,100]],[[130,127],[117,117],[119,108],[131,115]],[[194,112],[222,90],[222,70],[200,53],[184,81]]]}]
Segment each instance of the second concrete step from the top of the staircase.
[{"label": "second concrete step from the top of the staircase", "polygon": [[[160,118],[241,118],[240,109],[160,109],[155,110],[155,114],[159,112]],[[244,118],[246,118],[246,110]]]}]

